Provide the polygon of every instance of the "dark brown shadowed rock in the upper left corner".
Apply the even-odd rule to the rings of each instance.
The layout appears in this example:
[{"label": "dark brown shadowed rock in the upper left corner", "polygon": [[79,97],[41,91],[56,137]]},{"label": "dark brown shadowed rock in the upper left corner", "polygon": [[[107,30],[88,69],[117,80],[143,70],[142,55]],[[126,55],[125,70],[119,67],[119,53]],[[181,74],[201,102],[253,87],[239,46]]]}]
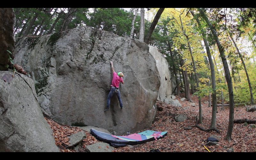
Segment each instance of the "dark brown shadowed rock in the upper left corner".
[{"label": "dark brown shadowed rock in the upper left corner", "polygon": [[[13,53],[15,36],[14,36],[14,25],[15,25],[15,14],[13,8],[0,8],[0,70],[7,70],[6,64],[11,65],[9,62],[9,50]],[[10,55],[12,59],[13,55]]]}]

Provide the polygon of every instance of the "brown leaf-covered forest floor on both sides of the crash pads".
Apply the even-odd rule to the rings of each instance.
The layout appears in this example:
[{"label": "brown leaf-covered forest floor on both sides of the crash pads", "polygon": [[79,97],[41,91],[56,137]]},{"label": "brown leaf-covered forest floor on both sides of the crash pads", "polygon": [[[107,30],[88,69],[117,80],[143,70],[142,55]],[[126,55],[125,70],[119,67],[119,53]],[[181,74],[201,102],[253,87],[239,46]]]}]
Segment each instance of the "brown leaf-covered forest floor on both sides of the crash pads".
[{"label": "brown leaf-covered forest floor on both sides of the crash pads", "polygon": [[[220,131],[205,132],[197,128],[196,116],[198,116],[198,98],[192,96],[193,102],[180,101],[183,95],[176,96],[176,99],[182,105],[180,107],[174,107],[172,105],[157,101],[157,106],[162,107],[162,111],[157,111],[154,123],[145,130],[153,131],[166,131],[166,136],[158,140],[152,140],[146,143],[133,145],[133,148],[119,147],[115,148],[113,152],[208,152],[202,145],[202,142],[211,135],[218,137],[218,144],[215,146],[206,146],[211,152],[227,152],[229,148],[233,148],[234,152],[256,152],[256,129],[250,129],[243,124],[234,123],[233,132],[230,141],[224,140],[228,130],[229,108],[224,107],[221,110],[221,106],[218,107],[218,113],[216,118],[216,128]],[[212,107],[208,107],[208,104],[204,103],[208,100],[207,97],[202,99],[203,109],[203,123],[199,124],[204,129],[208,129],[211,124]],[[196,106],[192,107],[191,104],[195,103]],[[185,109],[183,109],[185,108]],[[178,114],[187,115],[188,119],[184,122],[175,122],[174,116]],[[256,119],[256,112],[246,112],[245,106],[235,107],[234,119]],[[60,125],[56,122],[47,119],[47,122],[51,125],[54,133],[55,143],[61,149],[62,152],[76,152],[75,150],[66,148],[68,143],[68,137],[76,132],[83,131],[78,127],[69,125]],[[191,126],[191,130],[184,130],[184,127]],[[138,132],[143,132],[138,131]],[[83,152],[87,145],[100,142],[89,132],[86,132],[86,139],[83,140],[83,147],[80,147],[79,151]],[[132,133],[131,133],[132,134]]]}]

